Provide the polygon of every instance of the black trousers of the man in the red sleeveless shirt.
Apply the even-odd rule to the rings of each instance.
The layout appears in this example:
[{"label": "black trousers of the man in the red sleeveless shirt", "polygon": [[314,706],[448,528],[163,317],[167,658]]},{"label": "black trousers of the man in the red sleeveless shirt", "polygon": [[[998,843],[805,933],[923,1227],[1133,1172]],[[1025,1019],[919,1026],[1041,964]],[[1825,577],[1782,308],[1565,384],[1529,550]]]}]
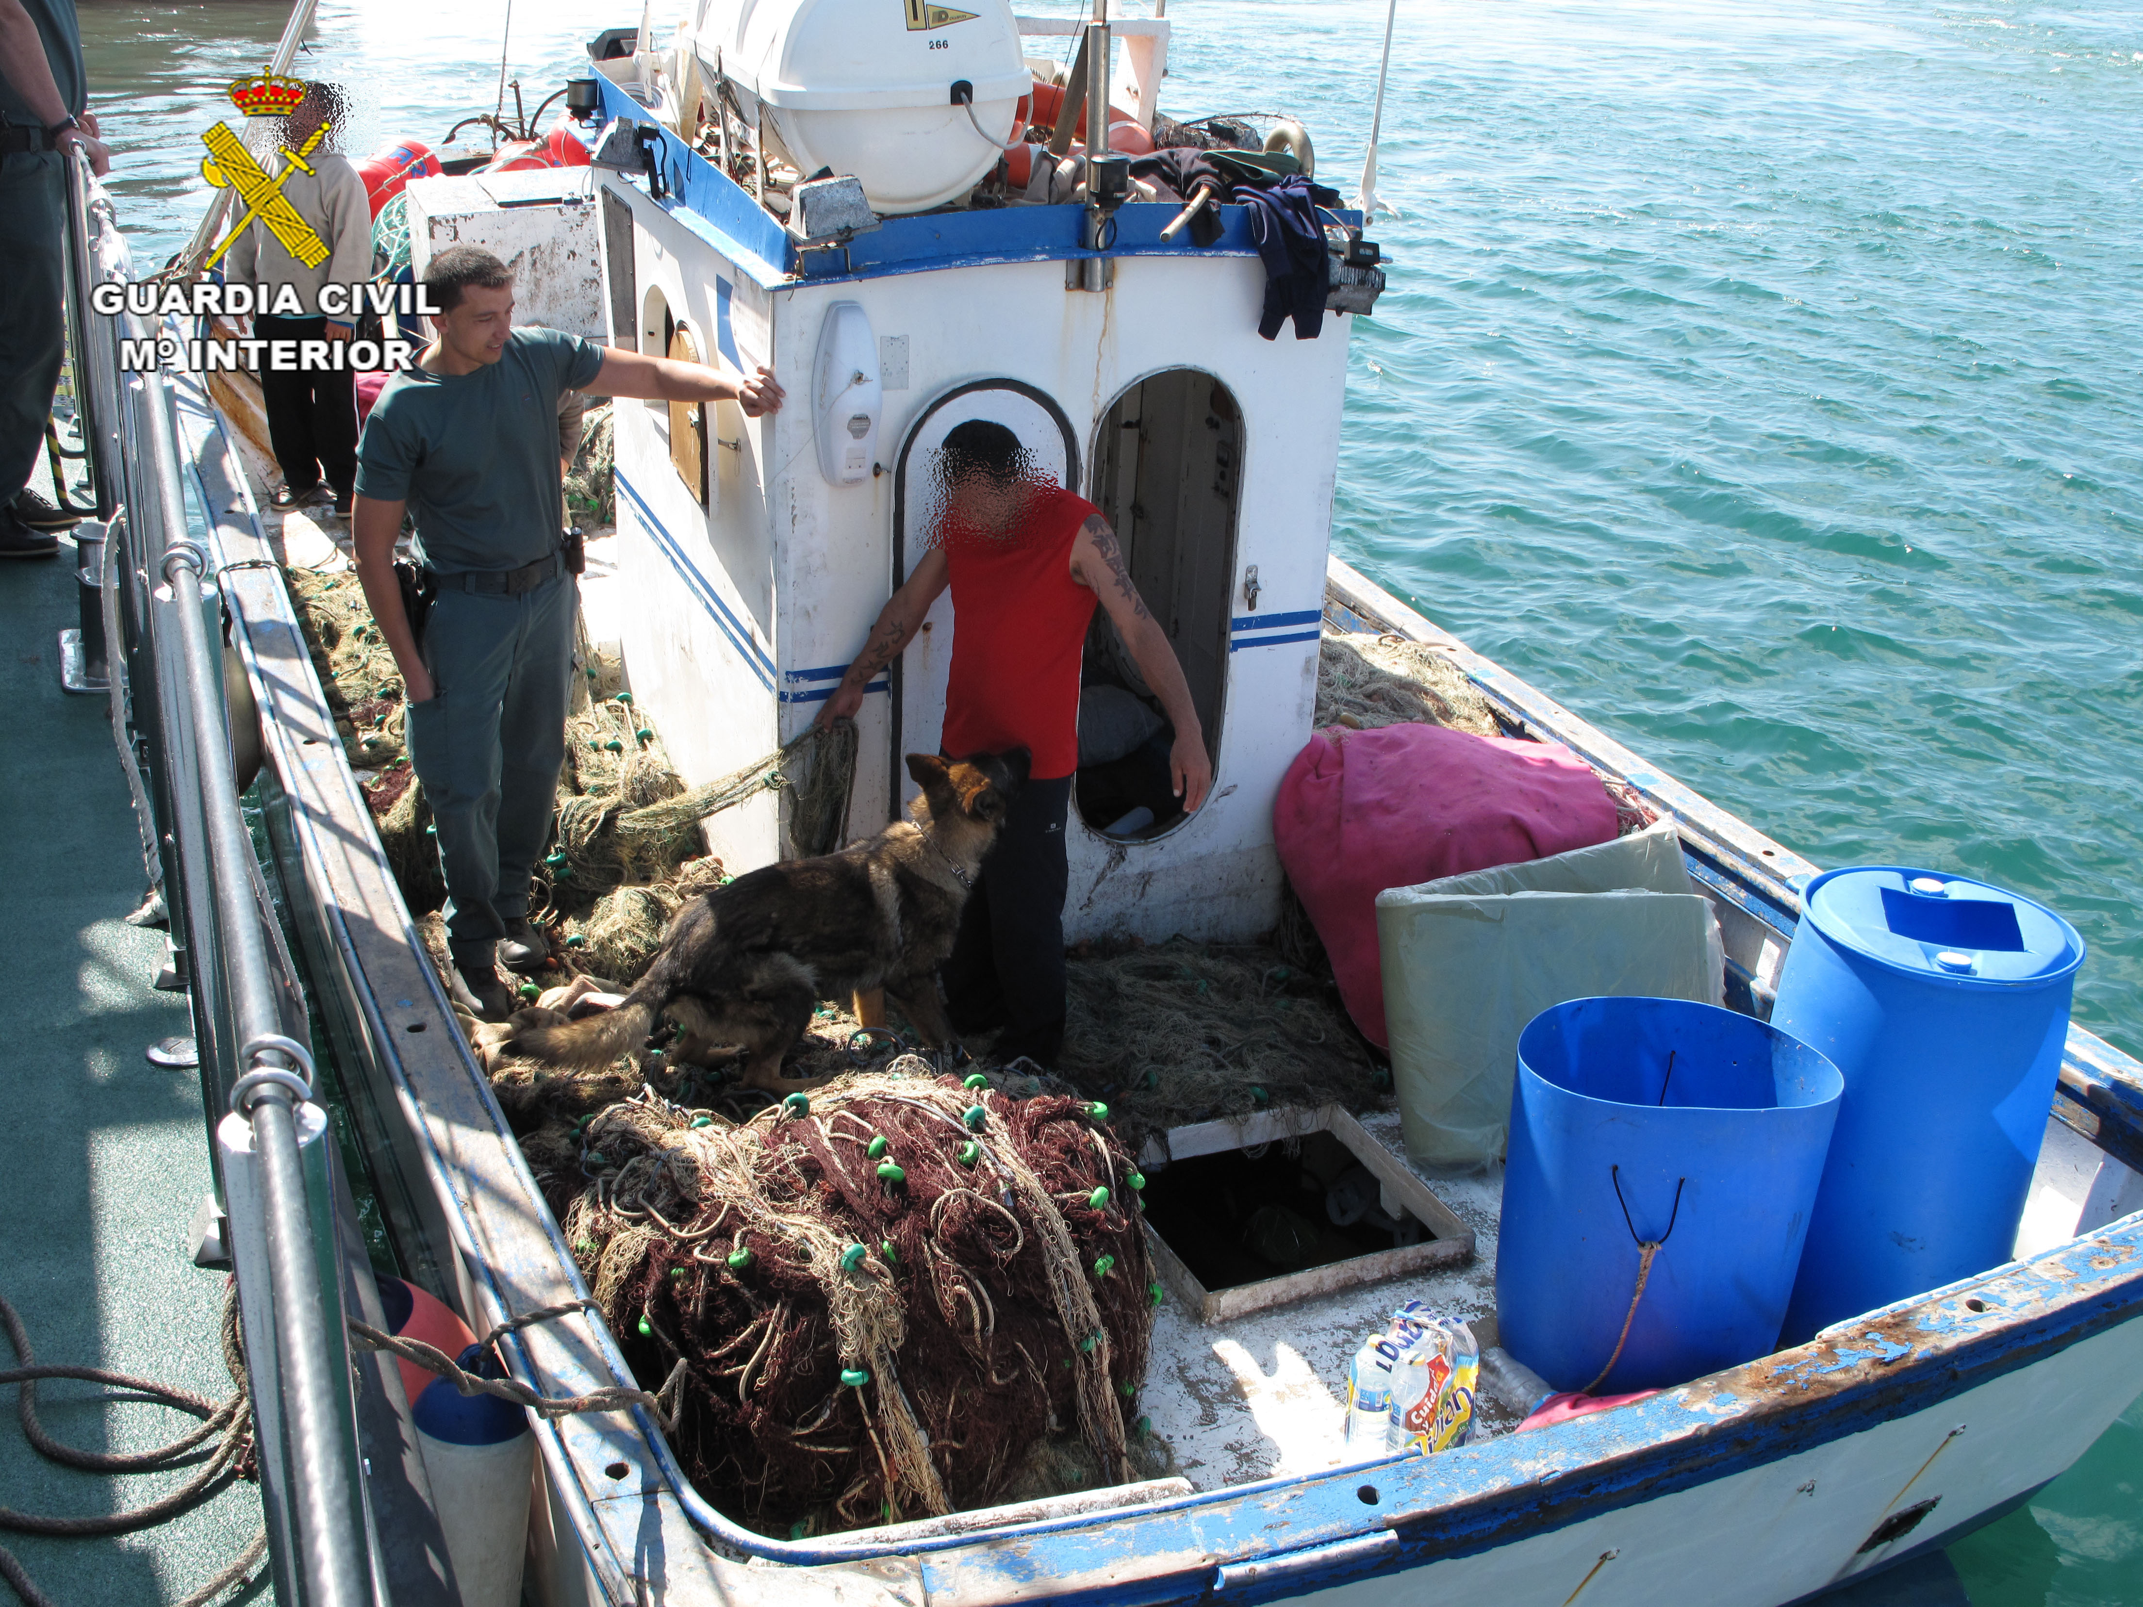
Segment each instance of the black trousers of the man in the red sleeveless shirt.
[{"label": "black trousers of the man in the red sleeveless shirt", "polygon": [[1065,816],[1072,778],[1026,782],[960,911],[939,973],[954,1031],[1005,1031],[996,1056],[1056,1065],[1065,1041]]}]

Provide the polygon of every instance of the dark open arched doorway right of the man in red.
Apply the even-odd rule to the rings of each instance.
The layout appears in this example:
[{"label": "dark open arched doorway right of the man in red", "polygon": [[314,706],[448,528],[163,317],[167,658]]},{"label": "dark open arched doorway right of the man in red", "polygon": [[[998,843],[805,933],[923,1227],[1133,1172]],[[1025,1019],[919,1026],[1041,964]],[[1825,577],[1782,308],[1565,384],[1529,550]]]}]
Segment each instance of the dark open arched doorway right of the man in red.
[{"label": "dark open arched doorway right of the man in red", "polygon": [[[1228,621],[1243,486],[1243,411],[1200,369],[1166,369],[1117,396],[1093,444],[1093,504],[1123,544],[1132,585],[1183,664],[1219,769]],[[1183,821],[1168,780],[1174,733],[1106,613],[1080,675],[1080,818],[1112,840]]]}]

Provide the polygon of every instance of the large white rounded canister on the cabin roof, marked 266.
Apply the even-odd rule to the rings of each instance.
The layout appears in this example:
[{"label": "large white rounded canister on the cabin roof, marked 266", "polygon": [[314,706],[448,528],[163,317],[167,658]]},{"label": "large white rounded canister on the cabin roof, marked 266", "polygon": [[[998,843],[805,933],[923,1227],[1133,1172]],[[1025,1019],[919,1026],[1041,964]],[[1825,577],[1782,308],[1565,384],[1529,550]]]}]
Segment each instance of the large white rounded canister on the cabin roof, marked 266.
[{"label": "large white rounded canister on the cabin roof, marked 266", "polygon": [[[696,49],[763,103],[806,178],[849,174],[883,214],[973,186],[1033,84],[1005,0],[716,0]],[[971,88],[973,122],[954,84]]]}]

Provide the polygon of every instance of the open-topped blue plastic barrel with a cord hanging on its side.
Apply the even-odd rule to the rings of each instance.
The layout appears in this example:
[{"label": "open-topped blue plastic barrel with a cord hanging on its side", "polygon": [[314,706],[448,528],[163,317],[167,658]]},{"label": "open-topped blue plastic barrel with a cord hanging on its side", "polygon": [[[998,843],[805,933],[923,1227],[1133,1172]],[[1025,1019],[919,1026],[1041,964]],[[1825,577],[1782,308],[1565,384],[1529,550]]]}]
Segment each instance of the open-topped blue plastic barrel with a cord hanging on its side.
[{"label": "open-topped blue plastic barrel with a cord hanging on its side", "polygon": [[[1770,1354],[1841,1088],[1807,1043],[1717,1005],[1575,998],[1534,1016],[1496,1247],[1502,1346],[1556,1388],[1603,1395]],[[1644,1243],[1659,1249],[1633,1313]]]}]

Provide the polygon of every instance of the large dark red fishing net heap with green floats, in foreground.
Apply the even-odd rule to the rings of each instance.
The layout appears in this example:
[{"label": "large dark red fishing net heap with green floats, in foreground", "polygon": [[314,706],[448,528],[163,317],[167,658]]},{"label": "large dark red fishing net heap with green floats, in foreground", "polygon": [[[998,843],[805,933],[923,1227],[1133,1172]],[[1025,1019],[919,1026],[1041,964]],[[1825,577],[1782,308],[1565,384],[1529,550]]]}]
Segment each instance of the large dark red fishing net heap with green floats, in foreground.
[{"label": "large dark red fishing net heap with green floats, in foreground", "polygon": [[769,1534],[990,1504],[1052,1429],[1142,1472],[1153,1275],[1106,1112],[909,1071],[525,1140],[692,1483]]}]

